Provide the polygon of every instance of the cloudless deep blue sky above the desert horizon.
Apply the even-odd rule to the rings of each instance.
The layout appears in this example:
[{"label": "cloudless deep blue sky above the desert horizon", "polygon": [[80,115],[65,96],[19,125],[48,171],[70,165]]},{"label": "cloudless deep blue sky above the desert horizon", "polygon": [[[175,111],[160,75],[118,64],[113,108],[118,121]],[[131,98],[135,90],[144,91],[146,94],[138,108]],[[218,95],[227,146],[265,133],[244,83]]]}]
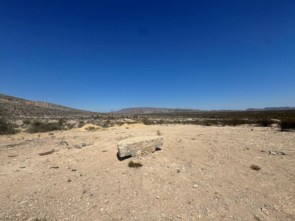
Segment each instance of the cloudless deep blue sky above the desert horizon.
[{"label": "cloudless deep blue sky above the desert horizon", "polygon": [[1,1],[0,93],[109,112],[295,106],[295,1]]}]

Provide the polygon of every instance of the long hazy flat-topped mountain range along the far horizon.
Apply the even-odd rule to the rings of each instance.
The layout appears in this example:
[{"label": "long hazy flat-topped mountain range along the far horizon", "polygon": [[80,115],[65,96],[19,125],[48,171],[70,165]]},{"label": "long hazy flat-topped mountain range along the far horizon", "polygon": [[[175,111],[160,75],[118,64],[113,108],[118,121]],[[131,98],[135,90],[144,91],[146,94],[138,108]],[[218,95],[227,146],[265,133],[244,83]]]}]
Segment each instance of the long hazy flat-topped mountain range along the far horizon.
[{"label": "long hazy flat-topped mountain range along the far horizon", "polygon": [[[248,108],[246,111],[260,111],[260,110],[295,110],[295,107],[278,107],[278,108],[264,108],[255,109]],[[226,112],[226,111],[242,111],[242,110],[199,110],[199,109],[181,109],[181,108],[123,108],[114,111],[113,113],[122,114],[143,114],[143,113],[191,113],[191,112]]]}]

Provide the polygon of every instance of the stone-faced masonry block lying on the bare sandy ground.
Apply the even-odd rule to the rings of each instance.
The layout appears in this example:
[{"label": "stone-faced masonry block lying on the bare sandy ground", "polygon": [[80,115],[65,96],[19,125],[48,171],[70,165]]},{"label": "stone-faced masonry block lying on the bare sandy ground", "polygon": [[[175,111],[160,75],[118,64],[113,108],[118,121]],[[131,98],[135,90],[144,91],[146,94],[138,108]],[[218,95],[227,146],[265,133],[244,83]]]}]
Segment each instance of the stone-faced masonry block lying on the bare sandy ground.
[{"label": "stone-faced masonry block lying on the bare sandy ground", "polygon": [[142,153],[155,152],[156,148],[163,145],[163,137],[160,136],[145,136],[132,137],[118,142],[119,157],[123,156],[139,156]]}]

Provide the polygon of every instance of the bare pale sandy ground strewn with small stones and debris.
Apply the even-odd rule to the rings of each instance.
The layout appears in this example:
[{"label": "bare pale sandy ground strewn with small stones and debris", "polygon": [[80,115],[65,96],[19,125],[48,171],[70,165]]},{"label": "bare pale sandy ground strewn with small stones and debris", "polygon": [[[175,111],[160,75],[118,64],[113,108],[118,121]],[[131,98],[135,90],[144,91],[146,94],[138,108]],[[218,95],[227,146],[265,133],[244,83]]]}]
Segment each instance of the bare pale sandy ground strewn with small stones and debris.
[{"label": "bare pale sandy ground strewn with small stones and debris", "polygon": [[[158,129],[161,150],[117,158],[120,139],[155,136]],[[0,137],[0,220],[295,220],[294,132],[157,125],[54,136]],[[69,146],[94,145],[58,147],[63,136]],[[2,146],[8,144],[16,145]],[[58,151],[38,155],[51,149]],[[130,160],[143,166],[129,168]]]}]

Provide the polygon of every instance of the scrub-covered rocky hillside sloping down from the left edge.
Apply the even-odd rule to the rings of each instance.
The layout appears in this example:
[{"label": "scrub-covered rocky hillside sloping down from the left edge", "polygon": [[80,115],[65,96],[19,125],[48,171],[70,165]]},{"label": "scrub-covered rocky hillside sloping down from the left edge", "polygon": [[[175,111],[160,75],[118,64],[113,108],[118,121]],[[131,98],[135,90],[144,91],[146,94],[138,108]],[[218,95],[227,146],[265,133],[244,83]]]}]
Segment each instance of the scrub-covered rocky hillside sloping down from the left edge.
[{"label": "scrub-covered rocky hillside sloping down from the left edge", "polygon": [[25,100],[0,94],[0,107],[10,118],[81,118],[96,116],[97,112],[78,110],[43,101]]}]

